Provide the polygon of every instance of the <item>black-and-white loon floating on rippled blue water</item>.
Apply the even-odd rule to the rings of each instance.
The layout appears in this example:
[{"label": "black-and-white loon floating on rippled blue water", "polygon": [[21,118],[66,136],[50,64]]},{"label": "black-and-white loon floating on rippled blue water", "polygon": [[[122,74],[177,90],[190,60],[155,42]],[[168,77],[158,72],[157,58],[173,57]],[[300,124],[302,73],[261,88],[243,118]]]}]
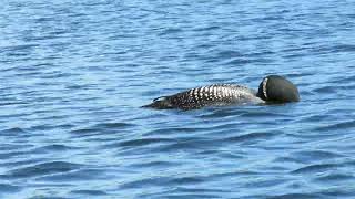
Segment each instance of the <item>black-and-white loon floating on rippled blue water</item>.
[{"label": "black-and-white loon floating on rippled blue water", "polygon": [[298,101],[298,90],[292,82],[280,75],[268,75],[260,83],[257,92],[236,84],[212,84],[174,95],[161,96],[142,107],[196,109],[205,106],[273,104]]}]

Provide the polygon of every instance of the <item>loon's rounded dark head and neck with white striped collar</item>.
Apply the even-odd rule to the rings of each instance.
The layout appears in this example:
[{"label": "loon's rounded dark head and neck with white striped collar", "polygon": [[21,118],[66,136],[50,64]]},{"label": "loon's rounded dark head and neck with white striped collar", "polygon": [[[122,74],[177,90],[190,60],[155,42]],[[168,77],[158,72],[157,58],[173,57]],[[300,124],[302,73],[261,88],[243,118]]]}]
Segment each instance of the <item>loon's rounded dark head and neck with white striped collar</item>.
[{"label": "loon's rounded dark head and neck with white striped collar", "polygon": [[268,75],[258,85],[256,94],[260,98],[271,103],[298,102],[297,87],[286,78],[278,75]]}]

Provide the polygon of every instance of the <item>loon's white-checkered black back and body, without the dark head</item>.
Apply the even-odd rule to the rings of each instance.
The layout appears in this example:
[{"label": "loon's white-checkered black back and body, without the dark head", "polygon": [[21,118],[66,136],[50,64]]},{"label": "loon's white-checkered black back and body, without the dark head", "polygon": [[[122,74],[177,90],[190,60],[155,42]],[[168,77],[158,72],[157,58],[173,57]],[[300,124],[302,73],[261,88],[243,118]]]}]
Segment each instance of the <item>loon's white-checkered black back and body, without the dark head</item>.
[{"label": "loon's white-checkered black back and body, without the dark head", "polygon": [[[153,103],[142,107],[158,109],[194,109],[204,106],[224,106],[258,100],[255,91],[234,84],[213,84],[192,88],[170,96],[158,97]],[[255,100],[254,100],[255,101]],[[261,101],[261,100],[260,100]]]}]

